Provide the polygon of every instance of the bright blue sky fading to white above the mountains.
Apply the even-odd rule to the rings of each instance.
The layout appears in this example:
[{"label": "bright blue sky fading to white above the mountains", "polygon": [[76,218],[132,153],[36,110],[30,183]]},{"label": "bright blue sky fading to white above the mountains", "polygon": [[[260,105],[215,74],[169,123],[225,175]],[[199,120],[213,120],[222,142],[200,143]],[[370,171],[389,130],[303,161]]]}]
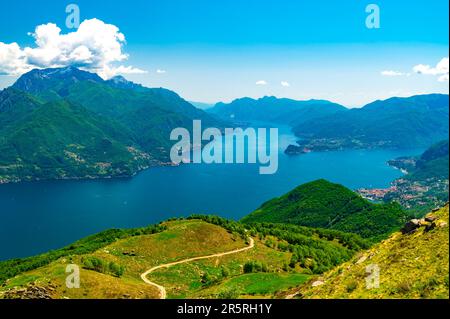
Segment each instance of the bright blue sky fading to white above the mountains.
[{"label": "bright blue sky fading to white above the mountains", "polygon": [[[125,35],[129,58],[121,63],[146,71],[127,78],[193,101],[275,95],[354,107],[448,93],[448,81],[413,71],[448,57],[446,0],[1,0],[0,42],[32,47],[28,33],[49,22],[74,31],[65,27],[69,3],[79,6],[81,20],[97,18]],[[365,25],[370,3],[380,8],[379,29]],[[0,87],[15,78],[0,75]]]}]

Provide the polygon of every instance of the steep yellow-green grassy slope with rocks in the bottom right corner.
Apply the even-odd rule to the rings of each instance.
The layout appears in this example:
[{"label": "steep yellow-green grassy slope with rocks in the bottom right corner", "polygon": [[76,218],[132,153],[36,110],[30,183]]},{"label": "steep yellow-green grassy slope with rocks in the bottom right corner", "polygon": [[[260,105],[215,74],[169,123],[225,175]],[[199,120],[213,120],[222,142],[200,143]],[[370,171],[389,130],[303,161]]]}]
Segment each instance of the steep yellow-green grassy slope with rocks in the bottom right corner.
[{"label": "steep yellow-green grassy slope with rocks in the bottom right corner", "polygon": [[[448,223],[446,205],[427,215],[426,220],[420,221],[421,226],[411,233],[395,233],[382,243],[357,254],[351,261],[325,273],[323,277],[315,278],[284,296],[448,299]],[[379,270],[378,285],[368,278],[374,269]],[[375,284],[369,286],[370,289],[366,286],[367,278]]]}]

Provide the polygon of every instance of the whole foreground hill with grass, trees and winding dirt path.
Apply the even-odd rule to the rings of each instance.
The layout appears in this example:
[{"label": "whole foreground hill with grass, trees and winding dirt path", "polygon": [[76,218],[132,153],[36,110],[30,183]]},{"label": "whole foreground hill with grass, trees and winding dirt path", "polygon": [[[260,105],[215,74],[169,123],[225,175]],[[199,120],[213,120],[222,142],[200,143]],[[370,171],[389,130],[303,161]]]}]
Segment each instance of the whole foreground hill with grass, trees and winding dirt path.
[{"label": "whole foreground hill with grass, trees and winding dirt path", "polygon": [[[270,298],[367,247],[355,234],[192,216],[109,230],[46,254],[2,261],[0,299],[159,298],[141,276],[173,262],[181,263],[146,276],[164,287],[167,298]],[[183,262],[213,254],[223,255]],[[66,287],[68,264],[81,268],[78,289]]]}]

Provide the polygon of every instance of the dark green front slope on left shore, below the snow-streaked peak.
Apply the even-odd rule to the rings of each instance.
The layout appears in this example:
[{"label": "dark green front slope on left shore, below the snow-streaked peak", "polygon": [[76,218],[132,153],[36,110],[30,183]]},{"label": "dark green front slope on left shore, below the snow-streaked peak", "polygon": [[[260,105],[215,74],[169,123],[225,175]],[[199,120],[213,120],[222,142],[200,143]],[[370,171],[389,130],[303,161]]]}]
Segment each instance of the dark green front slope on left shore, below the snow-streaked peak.
[{"label": "dark green front slope on left shore, below the snow-streaked peak", "polygon": [[11,180],[128,176],[148,165],[131,133],[82,106],[38,106],[1,130],[0,177]]}]

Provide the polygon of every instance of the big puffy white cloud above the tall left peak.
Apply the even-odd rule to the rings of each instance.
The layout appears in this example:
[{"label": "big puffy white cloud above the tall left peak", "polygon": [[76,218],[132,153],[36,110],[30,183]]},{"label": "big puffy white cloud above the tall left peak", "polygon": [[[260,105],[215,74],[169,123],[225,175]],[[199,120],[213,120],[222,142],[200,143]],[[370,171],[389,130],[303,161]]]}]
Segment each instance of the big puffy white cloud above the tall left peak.
[{"label": "big puffy white cloud above the tall left peak", "polygon": [[21,49],[17,43],[0,42],[0,73],[19,75],[33,68],[76,66],[104,78],[116,74],[144,73],[132,66],[116,65],[128,59],[123,52],[125,36],[119,28],[98,19],[85,20],[67,34],[53,23],[30,33],[35,47]]}]

